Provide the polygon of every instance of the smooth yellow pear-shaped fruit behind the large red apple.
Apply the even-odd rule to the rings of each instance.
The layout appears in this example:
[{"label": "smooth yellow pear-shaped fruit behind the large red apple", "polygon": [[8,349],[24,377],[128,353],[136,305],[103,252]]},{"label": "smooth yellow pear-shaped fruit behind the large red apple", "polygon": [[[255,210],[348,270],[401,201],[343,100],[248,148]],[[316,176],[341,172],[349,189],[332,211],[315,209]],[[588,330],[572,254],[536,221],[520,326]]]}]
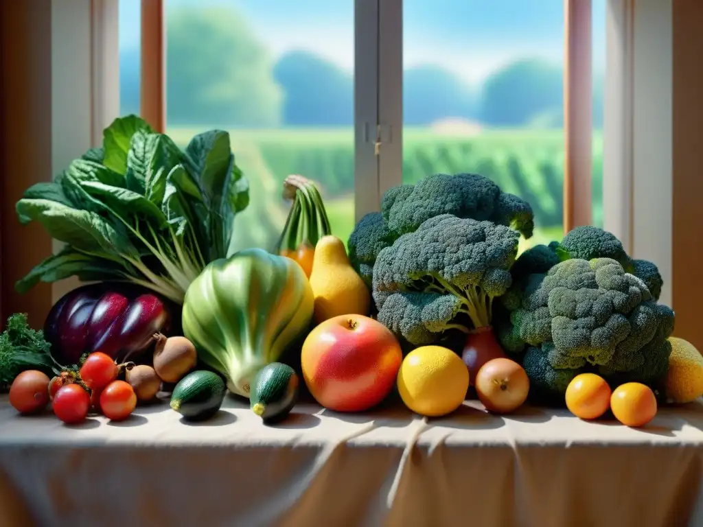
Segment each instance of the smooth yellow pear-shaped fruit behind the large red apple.
[{"label": "smooth yellow pear-shaped fruit behind the large red apple", "polygon": [[310,274],[315,296],[315,323],[337,315],[368,315],[371,295],[349,263],[347,249],[336,236],[324,236],[315,246]]}]

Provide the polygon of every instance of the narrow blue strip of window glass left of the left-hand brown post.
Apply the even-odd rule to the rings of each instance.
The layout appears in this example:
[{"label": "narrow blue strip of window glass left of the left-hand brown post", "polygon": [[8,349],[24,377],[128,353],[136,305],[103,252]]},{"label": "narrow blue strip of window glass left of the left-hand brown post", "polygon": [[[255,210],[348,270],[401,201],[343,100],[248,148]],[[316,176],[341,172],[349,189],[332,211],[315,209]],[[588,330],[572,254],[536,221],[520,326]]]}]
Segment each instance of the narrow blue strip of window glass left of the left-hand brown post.
[{"label": "narrow blue strip of window glass left of the left-hand brown post", "polygon": [[120,115],[139,115],[141,0],[120,0]]}]

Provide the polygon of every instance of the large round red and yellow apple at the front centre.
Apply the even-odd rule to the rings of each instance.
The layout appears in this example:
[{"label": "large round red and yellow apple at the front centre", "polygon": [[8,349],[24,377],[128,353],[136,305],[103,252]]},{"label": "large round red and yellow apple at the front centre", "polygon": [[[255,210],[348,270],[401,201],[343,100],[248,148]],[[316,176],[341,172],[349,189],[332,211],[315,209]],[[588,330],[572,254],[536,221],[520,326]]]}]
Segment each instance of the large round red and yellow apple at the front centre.
[{"label": "large round red and yellow apple at the front centre", "polygon": [[305,384],[336,412],[363,412],[390,393],[403,361],[385,325],[363,315],[340,315],[315,327],[302,347]]}]

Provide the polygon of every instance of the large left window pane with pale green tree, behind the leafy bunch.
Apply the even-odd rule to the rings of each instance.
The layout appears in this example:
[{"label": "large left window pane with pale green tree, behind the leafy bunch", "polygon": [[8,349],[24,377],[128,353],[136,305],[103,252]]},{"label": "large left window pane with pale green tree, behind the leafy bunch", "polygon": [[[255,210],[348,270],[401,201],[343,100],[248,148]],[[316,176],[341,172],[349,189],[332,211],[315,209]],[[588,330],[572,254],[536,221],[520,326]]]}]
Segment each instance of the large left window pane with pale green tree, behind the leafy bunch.
[{"label": "large left window pane with pale green tree, behind the leafy bunch", "polygon": [[231,134],[249,179],[238,247],[275,244],[282,182],[318,184],[333,233],[354,227],[354,2],[169,0],[167,134]]}]

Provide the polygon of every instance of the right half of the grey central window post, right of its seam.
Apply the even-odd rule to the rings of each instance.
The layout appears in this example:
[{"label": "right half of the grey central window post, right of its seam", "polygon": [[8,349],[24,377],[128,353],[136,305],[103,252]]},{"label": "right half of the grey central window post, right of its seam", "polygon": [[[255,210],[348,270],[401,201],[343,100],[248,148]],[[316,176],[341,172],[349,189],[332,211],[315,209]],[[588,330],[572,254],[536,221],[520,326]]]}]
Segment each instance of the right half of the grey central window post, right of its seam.
[{"label": "right half of the grey central window post, right of its seam", "polygon": [[378,191],[403,182],[403,0],[379,1]]}]

